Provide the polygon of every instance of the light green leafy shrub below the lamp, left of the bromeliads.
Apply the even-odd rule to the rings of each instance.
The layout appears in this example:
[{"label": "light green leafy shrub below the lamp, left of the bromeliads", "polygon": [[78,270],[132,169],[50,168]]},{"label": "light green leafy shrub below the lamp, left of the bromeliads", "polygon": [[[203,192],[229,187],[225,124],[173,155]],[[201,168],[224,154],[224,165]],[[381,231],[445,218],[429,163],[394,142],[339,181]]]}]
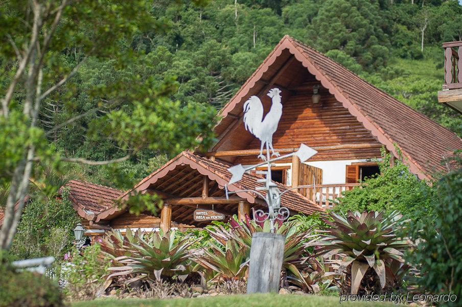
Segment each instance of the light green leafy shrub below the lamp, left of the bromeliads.
[{"label": "light green leafy shrub below the lamp, left of the bromeliads", "polygon": [[104,289],[109,264],[101,256],[99,244],[86,246],[81,253],[75,251],[72,262],[62,270],[67,280],[64,292],[71,300],[94,299]]}]

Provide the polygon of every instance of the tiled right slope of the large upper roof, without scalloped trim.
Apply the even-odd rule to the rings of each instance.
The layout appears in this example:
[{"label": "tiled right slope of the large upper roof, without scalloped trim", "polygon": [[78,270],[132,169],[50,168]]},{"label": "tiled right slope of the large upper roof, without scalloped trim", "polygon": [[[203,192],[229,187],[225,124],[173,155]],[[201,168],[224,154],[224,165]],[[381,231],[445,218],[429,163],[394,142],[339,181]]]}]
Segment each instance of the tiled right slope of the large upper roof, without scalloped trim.
[{"label": "tiled right slope of the large upper roof, without scalloped trim", "polygon": [[[320,52],[293,39],[296,48],[309,59],[366,120],[397,143],[409,159],[424,172],[441,170],[448,150],[462,149],[462,140],[427,116],[389,96],[371,83]],[[436,103],[436,102],[435,102]]]}]

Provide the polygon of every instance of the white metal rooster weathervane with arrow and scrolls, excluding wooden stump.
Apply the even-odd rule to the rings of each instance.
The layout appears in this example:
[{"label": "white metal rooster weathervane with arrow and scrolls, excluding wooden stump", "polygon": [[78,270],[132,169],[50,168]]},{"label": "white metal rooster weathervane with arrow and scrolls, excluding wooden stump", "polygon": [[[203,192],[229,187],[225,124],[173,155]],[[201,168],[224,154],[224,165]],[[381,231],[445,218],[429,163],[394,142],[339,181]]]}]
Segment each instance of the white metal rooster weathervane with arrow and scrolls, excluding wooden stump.
[{"label": "white metal rooster weathervane with arrow and scrolls, excluding wooden stump", "polygon": [[[283,221],[289,217],[289,209],[287,209],[286,207],[281,207],[281,197],[286,192],[293,190],[294,188],[305,186],[293,187],[281,192],[278,186],[271,181],[271,163],[277,160],[282,160],[291,157],[293,155],[296,155],[301,162],[305,162],[313,155],[315,155],[317,151],[306,146],[305,144],[301,144],[297,151],[283,156],[281,156],[278,152],[274,151],[272,143],[273,134],[278,129],[279,120],[281,119],[282,115],[281,90],[277,87],[272,88],[268,91],[267,95],[271,98],[271,108],[264,118],[263,104],[260,98],[258,98],[257,96],[251,96],[244,103],[244,126],[246,130],[248,130],[258,139],[260,139],[261,146],[258,158],[262,159],[263,162],[247,167],[243,167],[242,164],[238,164],[228,169],[228,171],[232,174],[232,177],[229,180],[228,184],[233,184],[241,180],[244,173],[267,164],[267,171],[257,171],[257,174],[259,175],[266,175],[266,178],[257,180],[258,182],[265,182],[265,186],[256,187],[256,190],[239,190],[234,192],[229,192],[227,186],[225,186],[225,192],[226,198],[228,198],[228,194],[232,193],[253,192],[265,199],[266,204],[268,205],[268,212],[266,213],[263,210],[259,209],[256,210],[254,214],[262,220],[269,219],[271,232],[274,232],[274,221],[276,219]],[[263,154],[263,147],[265,147],[265,145],[266,156]],[[275,158],[271,158],[272,156],[275,156]],[[259,191],[265,191],[266,196],[261,194]]]}]

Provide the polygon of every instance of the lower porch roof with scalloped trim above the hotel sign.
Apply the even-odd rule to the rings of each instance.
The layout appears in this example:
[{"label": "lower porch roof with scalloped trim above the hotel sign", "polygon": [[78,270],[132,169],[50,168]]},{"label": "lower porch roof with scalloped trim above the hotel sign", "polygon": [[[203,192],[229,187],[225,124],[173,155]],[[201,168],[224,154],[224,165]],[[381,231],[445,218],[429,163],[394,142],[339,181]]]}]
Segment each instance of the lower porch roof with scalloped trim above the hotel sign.
[{"label": "lower porch roof with scalloped trim above the hotel sign", "polygon": [[[231,178],[231,174],[228,172],[229,166],[219,161],[212,161],[200,155],[192,154],[187,151],[183,151],[175,158],[164,164],[163,167],[156,170],[139,183],[137,183],[131,191],[125,192],[121,198],[128,197],[130,192],[144,192],[150,185],[155,184],[157,181],[162,180],[168,175],[169,172],[173,171],[179,165],[188,165],[190,168],[197,170],[200,174],[208,176],[210,180],[216,181],[219,186],[223,187],[227,184]],[[229,191],[239,191],[239,190],[253,190],[257,186],[261,186],[262,183],[257,182],[261,177],[244,174],[242,179],[234,184],[227,185]],[[281,191],[286,190],[288,187],[275,182]],[[164,192],[161,191],[160,192]],[[263,196],[265,196],[264,191],[260,191]],[[251,193],[251,192],[237,192],[237,196],[242,197],[247,200],[249,203],[263,203],[264,198],[261,196]],[[304,197],[301,194],[298,194],[294,191],[289,191],[282,196],[281,205],[289,208],[295,212],[303,212],[304,214],[313,214],[314,212],[324,212],[325,210],[320,207],[318,204],[312,202],[308,198]],[[119,207],[112,207],[103,212],[101,212],[97,218],[96,222],[102,219],[111,219],[113,216],[120,214],[123,209]]]}]

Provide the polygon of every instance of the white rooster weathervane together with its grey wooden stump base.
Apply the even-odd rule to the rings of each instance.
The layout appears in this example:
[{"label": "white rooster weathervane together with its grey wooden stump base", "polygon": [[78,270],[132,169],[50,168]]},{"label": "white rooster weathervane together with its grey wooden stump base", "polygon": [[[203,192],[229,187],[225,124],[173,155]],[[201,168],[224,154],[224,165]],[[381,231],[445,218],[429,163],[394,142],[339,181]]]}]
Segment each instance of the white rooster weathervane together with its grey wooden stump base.
[{"label": "white rooster weathervane together with its grey wooden stump base", "polygon": [[[237,192],[254,192],[264,198],[268,206],[268,212],[258,209],[254,211],[253,219],[263,222],[269,220],[270,233],[255,232],[252,235],[249,259],[249,277],[247,280],[247,293],[267,293],[279,291],[279,279],[281,275],[282,261],[284,257],[285,237],[275,233],[274,221],[276,219],[284,221],[289,217],[289,209],[281,207],[281,196],[285,192],[292,190],[289,188],[281,192],[278,186],[271,180],[271,163],[296,155],[301,162],[305,162],[314,154],[316,150],[301,144],[297,151],[280,156],[274,151],[272,144],[273,133],[278,128],[279,120],[282,115],[281,90],[272,88],[268,91],[271,98],[271,108],[263,118],[263,105],[257,96],[251,96],[244,103],[244,126],[245,129],[261,140],[260,154],[258,158],[263,162],[252,166],[243,167],[241,164],[230,167],[228,171],[232,177],[228,184],[233,184],[241,180],[242,176],[252,169],[264,166],[267,170],[257,171],[257,174],[266,175],[266,178],[258,179],[258,182],[265,182],[264,186],[256,187],[255,190],[240,190],[229,192],[225,185],[226,198],[228,194]],[[263,155],[263,148],[266,145],[266,156]],[[271,154],[270,154],[271,150]],[[271,156],[276,156],[271,159]],[[266,160],[266,161],[265,161]],[[293,166],[292,166],[293,167]],[[265,191],[264,196],[259,191]],[[261,219],[263,218],[263,220]]]}]

